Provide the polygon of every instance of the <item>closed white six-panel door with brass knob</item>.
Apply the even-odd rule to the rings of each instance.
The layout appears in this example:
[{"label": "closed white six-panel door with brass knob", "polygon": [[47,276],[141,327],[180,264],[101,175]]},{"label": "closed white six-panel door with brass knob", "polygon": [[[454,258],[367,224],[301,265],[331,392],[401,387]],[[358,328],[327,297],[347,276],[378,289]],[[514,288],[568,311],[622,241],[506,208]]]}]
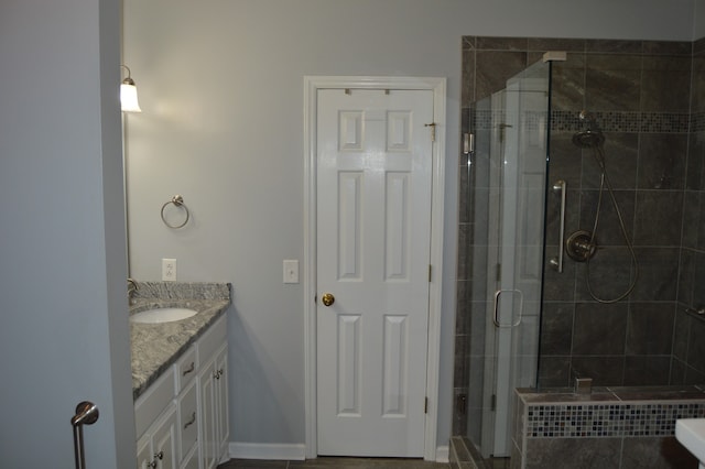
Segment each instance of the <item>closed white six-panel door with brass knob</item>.
[{"label": "closed white six-panel door with brass knob", "polygon": [[422,457],[433,91],[317,92],[318,454]]}]

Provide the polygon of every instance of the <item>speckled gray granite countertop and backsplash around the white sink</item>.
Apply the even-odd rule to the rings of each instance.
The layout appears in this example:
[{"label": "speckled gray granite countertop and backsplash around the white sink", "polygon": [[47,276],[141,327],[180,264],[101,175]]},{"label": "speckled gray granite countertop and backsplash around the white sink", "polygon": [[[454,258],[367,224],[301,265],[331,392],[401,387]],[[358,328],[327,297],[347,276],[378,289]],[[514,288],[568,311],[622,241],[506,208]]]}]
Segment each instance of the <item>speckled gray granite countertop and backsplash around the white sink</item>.
[{"label": "speckled gray granite countertop and backsplash around the white sink", "polygon": [[132,397],[137,400],[230,304],[230,284],[139,282],[130,315],[158,307],[185,307],[198,314],[161,324],[130,323]]}]

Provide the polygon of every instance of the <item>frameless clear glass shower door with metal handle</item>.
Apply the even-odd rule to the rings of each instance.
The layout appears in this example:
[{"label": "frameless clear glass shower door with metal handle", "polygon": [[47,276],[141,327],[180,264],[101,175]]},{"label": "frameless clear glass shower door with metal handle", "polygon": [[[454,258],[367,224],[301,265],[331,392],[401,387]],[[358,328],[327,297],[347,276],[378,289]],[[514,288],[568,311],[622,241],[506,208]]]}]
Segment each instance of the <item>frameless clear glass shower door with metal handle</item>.
[{"label": "frameless clear glass shower door with metal handle", "polygon": [[475,220],[467,436],[484,458],[511,455],[513,390],[536,385],[551,63],[506,85],[474,105],[465,149]]}]

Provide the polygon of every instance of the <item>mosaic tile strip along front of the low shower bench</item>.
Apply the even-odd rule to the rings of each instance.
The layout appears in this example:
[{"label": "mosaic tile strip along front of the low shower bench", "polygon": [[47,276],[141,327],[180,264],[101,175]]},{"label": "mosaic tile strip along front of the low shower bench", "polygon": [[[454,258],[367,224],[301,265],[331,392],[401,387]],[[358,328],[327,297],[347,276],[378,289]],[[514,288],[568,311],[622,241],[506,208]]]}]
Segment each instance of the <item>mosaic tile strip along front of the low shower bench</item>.
[{"label": "mosaic tile strip along front of the low shower bench", "polygon": [[673,436],[677,418],[705,417],[705,401],[527,406],[529,438]]}]

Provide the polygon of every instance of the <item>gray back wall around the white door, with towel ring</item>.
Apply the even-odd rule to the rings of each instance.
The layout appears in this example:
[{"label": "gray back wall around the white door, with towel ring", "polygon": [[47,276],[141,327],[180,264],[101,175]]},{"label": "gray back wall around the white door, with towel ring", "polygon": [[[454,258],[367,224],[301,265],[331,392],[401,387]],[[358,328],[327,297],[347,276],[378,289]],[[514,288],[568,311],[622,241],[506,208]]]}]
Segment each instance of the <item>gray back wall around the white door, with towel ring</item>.
[{"label": "gray back wall around the white door, with towel ring", "polygon": [[[583,7],[553,0],[124,1],[124,63],[144,110],[129,116],[126,126],[131,274],[158,280],[160,260],[176,258],[180,280],[232,282],[232,441],[305,439],[304,292],[281,283],[282,260],[303,260],[305,241],[303,76],[448,78],[438,403],[438,443],[445,445],[460,37],[692,39],[690,0],[598,0]],[[176,193],[193,214],[178,232],[159,217]]]}]

